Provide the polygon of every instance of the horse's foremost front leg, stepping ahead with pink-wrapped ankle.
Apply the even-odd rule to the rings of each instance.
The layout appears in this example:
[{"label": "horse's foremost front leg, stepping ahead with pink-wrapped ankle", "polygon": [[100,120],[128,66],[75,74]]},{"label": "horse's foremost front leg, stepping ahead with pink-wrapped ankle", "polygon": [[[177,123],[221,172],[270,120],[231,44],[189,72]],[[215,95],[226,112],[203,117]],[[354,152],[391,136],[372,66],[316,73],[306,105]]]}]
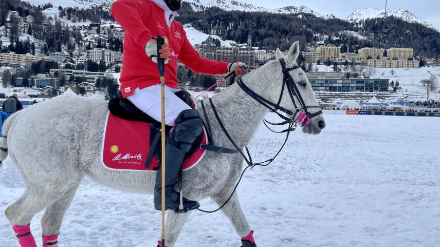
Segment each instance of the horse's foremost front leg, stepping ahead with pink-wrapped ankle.
[{"label": "horse's foremost front leg, stepping ahead with pink-wrapped ankle", "polygon": [[[212,200],[214,200],[218,205],[223,205],[225,201],[232,193],[232,189],[225,189],[221,193],[218,193],[212,196]],[[232,195],[231,199],[228,203],[222,208],[223,213],[228,217],[231,221],[232,225],[235,228],[235,231],[241,237],[243,247],[256,247],[255,241],[252,236],[252,232],[250,230],[249,223],[246,220],[246,216],[242,211],[242,207],[240,206],[239,196],[237,196],[237,192]]]}]

